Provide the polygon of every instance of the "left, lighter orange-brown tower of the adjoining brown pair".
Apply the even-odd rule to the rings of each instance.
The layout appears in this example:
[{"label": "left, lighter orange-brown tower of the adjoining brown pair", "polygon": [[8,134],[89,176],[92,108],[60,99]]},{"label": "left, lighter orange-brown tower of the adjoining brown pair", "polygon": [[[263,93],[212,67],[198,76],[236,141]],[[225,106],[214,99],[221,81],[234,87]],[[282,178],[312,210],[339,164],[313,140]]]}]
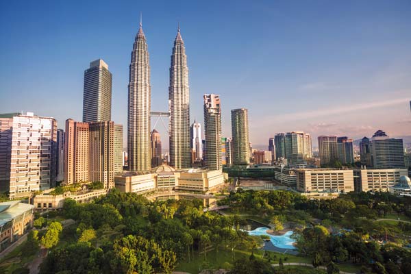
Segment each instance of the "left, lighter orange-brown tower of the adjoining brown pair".
[{"label": "left, lighter orange-brown tower of the adjoining brown pair", "polygon": [[66,120],[64,182],[88,182],[88,123]]}]

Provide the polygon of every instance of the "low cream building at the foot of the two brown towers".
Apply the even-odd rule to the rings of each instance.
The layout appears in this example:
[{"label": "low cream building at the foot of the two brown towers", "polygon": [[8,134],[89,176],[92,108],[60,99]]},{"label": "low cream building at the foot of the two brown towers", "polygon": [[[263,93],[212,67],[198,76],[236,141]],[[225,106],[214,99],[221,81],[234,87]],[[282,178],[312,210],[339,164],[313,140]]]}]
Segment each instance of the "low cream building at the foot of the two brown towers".
[{"label": "low cream building at the foot of the two brown towers", "polygon": [[75,200],[77,203],[89,203],[97,197],[105,196],[108,189],[99,189],[92,191],[70,192],[66,191],[62,195],[50,195],[51,190],[46,190],[33,198],[34,208],[36,210],[58,210],[63,208],[64,200],[67,198]]}]

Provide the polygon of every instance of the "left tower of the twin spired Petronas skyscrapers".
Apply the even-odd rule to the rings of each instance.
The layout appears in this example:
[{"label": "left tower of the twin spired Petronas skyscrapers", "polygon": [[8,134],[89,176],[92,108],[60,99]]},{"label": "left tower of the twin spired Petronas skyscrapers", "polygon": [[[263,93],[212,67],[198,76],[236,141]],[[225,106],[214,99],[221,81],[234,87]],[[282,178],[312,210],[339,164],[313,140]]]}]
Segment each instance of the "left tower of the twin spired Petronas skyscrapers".
[{"label": "left tower of the twin spired Petronas skyscrapers", "polygon": [[128,164],[130,171],[149,171],[151,86],[147,41],[142,24],[134,40],[128,86]]}]

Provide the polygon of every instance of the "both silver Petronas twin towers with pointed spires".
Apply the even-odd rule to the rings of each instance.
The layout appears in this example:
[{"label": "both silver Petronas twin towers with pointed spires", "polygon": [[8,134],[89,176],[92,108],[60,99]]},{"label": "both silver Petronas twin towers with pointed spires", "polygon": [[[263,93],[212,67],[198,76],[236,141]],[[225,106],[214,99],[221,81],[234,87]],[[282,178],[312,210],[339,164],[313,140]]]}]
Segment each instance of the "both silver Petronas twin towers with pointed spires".
[{"label": "both silver Petronas twin towers with pointed spires", "polygon": [[[150,157],[151,86],[147,40],[142,24],[134,40],[128,86],[128,161],[130,171],[147,172]],[[187,57],[179,32],[171,55],[169,86],[170,165],[190,167],[190,97]]]}]

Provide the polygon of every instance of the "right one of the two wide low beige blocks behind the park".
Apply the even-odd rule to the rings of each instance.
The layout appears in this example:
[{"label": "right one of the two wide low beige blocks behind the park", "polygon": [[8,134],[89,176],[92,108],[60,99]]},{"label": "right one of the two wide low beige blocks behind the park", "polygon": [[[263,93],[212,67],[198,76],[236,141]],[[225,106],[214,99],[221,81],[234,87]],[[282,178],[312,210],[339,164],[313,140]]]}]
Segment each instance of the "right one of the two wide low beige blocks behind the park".
[{"label": "right one of the two wide low beige blocks behind the park", "polygon": [[407,169],[354,169],[356,191],[389,191],[390,186],[399,183],[401,176],[407,176]]}]

